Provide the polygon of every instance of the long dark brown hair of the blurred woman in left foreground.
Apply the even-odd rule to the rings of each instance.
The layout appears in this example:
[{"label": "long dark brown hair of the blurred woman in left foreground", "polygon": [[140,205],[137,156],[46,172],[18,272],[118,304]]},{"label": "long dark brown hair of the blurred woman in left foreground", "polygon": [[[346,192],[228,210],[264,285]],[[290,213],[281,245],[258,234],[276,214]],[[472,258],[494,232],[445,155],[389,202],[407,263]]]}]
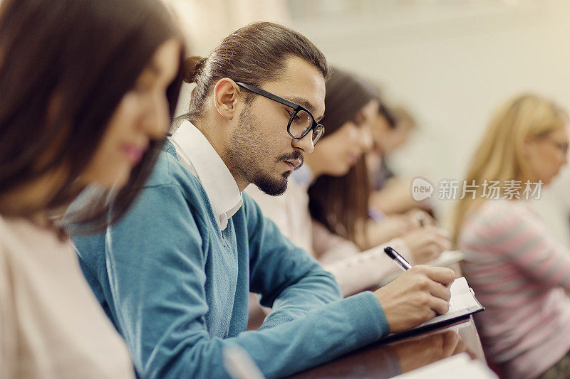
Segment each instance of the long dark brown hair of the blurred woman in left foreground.
[{"label": "long dark brown hair of the blurred woman in left foreground", "polygon": [[[0,197],[63,165],[68,170],[41,209],[2,207],[1,214],[28,216],[73,201],[81,190],[74,182],[92,159],[115,108],[158,46],[170,38],[182,41],[156,0],[3,1]],[[178,75],[167,89],[171,114],[181,81]],[[111,217],[103,205],[105,193],[92,203],[100,206],[76,213],[75,220],[103,228],[123,215],[161,146],[151,143],[114,197]]]}]

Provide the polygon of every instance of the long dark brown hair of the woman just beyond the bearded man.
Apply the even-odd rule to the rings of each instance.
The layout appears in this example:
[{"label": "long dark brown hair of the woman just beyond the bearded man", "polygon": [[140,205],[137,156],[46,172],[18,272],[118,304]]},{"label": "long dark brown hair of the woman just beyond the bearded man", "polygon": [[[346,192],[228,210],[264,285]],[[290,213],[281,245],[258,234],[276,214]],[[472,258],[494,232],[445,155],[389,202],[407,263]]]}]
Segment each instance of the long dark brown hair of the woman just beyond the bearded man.
[{"label": "long dark brown hair of the woman just beyond the bearded man", "polygon": [[[331,70],[326,82],[323,138],[351,119],[359,124],[360,110],[376,97],[378,92],[363,79],[343,70]],[[309,187],[309,210],[311,216],[332,233],[356,242],[358,224],[368,218],[370,193],[368,170],[361,157],[345,176],[322,175],[316,179]]]}]

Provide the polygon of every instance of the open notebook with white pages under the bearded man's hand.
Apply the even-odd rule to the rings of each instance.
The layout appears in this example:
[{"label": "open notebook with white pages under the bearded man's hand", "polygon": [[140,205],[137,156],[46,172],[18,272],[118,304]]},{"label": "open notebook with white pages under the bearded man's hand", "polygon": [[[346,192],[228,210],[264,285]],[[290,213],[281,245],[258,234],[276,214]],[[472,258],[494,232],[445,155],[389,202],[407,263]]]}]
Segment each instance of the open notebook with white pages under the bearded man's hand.
[{"label": "open notebook with white pages under the bearded man's hand", "polygon": [[472,289],[470,289],[465,277],[459,277],[455,279],[455,281],[451,284],[450,292],[450,309],[446,314],[435,316],[433,319],[425,321],[425,323],[416,326],[415,328],[408,331],[390,333],[385,338],[385,340],[392,341],[394,339],[421,333],[423,331],[437,329],[440,326],[445,326],[447,324],[451,324],[452,322],[465,319],[471,314],[475,314],[484,310],[484,307],[475,298],[475,293]]}]

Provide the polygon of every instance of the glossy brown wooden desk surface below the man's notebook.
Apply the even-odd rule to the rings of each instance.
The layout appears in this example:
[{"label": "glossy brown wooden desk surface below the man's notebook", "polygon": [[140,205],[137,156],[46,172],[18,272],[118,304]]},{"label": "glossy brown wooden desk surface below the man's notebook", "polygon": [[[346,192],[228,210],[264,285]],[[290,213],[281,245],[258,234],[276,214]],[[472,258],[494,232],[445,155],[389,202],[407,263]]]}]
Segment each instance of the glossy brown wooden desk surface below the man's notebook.
[{"label": "glossy brown wooden desk surface below the man's notebook", "polygon": [[289,378],[392,378],[464,351],[484,361],[472,317],[418,336],[372,343]]}]

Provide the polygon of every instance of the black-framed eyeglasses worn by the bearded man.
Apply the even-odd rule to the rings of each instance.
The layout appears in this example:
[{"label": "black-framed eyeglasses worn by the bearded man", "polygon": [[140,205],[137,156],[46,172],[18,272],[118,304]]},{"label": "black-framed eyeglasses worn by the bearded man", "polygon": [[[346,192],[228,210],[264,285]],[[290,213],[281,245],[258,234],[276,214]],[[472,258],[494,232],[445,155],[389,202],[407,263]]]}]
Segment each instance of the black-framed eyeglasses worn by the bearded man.
[{"label": "black-framed eyeglasses worn by the bearded man", "polygon": [[274,95],[271,92],[267,92],[266,90],[262,90],[255,85],[250,85],[242,82],[236,82],[236,84],[239,85],[239,87],[244,87],[246,90],[250,90],[256,93],[257,95],[267,97],[270,100],[279,102],[279,104],[290,107],[293,111],[289,112],[290,117],[289,124],[287,124],[287,133],[289,133],[289,135],[294,139],[301,139],[309,134],[309,132],[312,132],[314,146],[318,140],[323,137],[325,128],[323,125],[318,124],[311,112],[309,112],[309,110],[307,110],[302,105],[286,100],[283,97]]}]

